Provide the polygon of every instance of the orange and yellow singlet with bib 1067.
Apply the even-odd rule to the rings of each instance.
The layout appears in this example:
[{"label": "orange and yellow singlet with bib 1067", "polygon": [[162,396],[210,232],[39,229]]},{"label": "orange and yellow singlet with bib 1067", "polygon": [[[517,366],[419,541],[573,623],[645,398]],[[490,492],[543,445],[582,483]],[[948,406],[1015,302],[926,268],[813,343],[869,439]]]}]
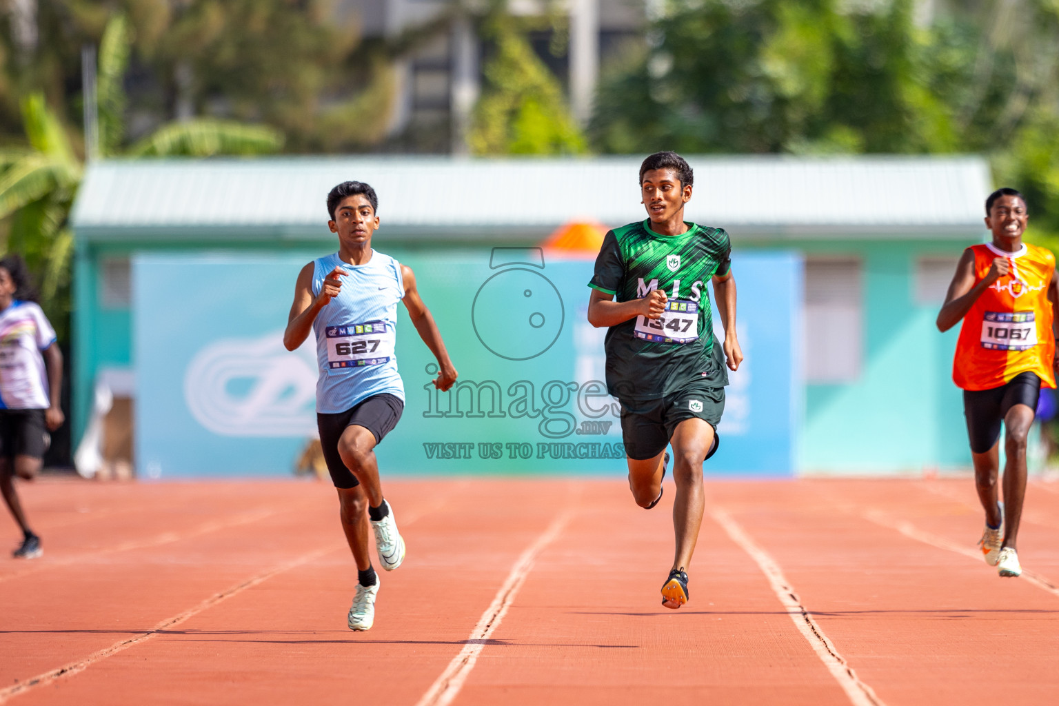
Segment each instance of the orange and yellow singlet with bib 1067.
[{"label": "orange and yellow singlet with bib 1067", "polygon": [[994,257],[1006,257],[1008,274],[990,285],[964,316],[952,379],[963,390],[992,390],[1020,373],[1034,373],[1041,386],[1055,387],[1052,359],[1052,303],[1055,272],[1052,251],[1024,243],[1016,253],[992,243],[973,246],[974,282],[989,272]]}]

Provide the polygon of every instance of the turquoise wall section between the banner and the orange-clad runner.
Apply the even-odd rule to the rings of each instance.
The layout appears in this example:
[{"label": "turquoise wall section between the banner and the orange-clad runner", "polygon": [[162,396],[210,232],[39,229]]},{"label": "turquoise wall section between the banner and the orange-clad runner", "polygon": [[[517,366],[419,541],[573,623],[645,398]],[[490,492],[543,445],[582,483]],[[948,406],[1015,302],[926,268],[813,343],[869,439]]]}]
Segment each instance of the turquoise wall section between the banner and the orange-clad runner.
[{"label": "turquoise wall section between the banner and the orange-clad runner", "polygon": [[[798,452],[804,474],[967,468],[963,398],[952,382],[958,327],[938,332],[940,302],[915,301],[921,257],[959,256],[972,240],[757,241],[806,257],[856,257],[862,267],[862,361],[850,382],[806,384]],[[738,276],[738,274],[737,274]]]}]

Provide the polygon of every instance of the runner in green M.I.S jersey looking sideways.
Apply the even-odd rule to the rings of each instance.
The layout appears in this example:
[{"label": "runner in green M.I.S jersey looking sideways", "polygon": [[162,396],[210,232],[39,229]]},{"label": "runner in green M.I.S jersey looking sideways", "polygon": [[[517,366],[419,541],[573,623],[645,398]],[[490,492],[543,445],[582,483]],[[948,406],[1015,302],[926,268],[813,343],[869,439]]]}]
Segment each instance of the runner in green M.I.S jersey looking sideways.
[{"label": "runner in green M.I.S jersey looking sideways", "polygon": [[[732,246],[721,229],[684,221],[692,167],[675,152],[640,167],[647,220],[607,233],[589,286],[589,323],[607,326],[607,391],[622,403],[629,487],[636,504],[662,499],[672,445],[677,550],[662,604],[687,602],[687,573],[704,506],[702,463],[717,450],[728,367],[742,362],[735,332]],[[706,283],[724,327],[716,345]],[[616,301],[614,301],[616,297]]]}]

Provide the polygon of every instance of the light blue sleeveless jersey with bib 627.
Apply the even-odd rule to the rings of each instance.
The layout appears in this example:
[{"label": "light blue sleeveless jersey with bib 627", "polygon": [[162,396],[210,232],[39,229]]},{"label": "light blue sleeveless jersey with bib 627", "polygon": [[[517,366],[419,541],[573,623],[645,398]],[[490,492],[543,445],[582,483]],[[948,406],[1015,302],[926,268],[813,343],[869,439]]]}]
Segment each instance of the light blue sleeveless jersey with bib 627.
[{"label": "light blue sleeveless jersey with bib 627", "polygon": [[394,357],[397,303],[405,296],[400,265],[372,251],[365,265],[343,263],[338,253],[312,263],[312,295],[341,267],[342,291],[320,310],[317,334],[317,412],[345,412],[373,395],[389,393],[405,400],[405,385]]}]

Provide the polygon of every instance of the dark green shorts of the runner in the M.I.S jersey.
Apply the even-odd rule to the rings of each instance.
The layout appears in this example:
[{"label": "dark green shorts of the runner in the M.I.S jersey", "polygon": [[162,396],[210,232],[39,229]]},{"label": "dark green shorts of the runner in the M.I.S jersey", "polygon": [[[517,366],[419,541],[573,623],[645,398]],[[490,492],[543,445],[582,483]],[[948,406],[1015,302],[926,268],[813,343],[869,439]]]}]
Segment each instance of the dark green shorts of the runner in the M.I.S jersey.
[{"label": "dark green shorts of the runner in the M.I.S jersey", "polygon": [[622,440],[629,458],[644,460],[662,453],[677,424],[698,417],[717,424],[724,412],[724,388],[690,384],[653,400],[618,400],[622,403]]}]

